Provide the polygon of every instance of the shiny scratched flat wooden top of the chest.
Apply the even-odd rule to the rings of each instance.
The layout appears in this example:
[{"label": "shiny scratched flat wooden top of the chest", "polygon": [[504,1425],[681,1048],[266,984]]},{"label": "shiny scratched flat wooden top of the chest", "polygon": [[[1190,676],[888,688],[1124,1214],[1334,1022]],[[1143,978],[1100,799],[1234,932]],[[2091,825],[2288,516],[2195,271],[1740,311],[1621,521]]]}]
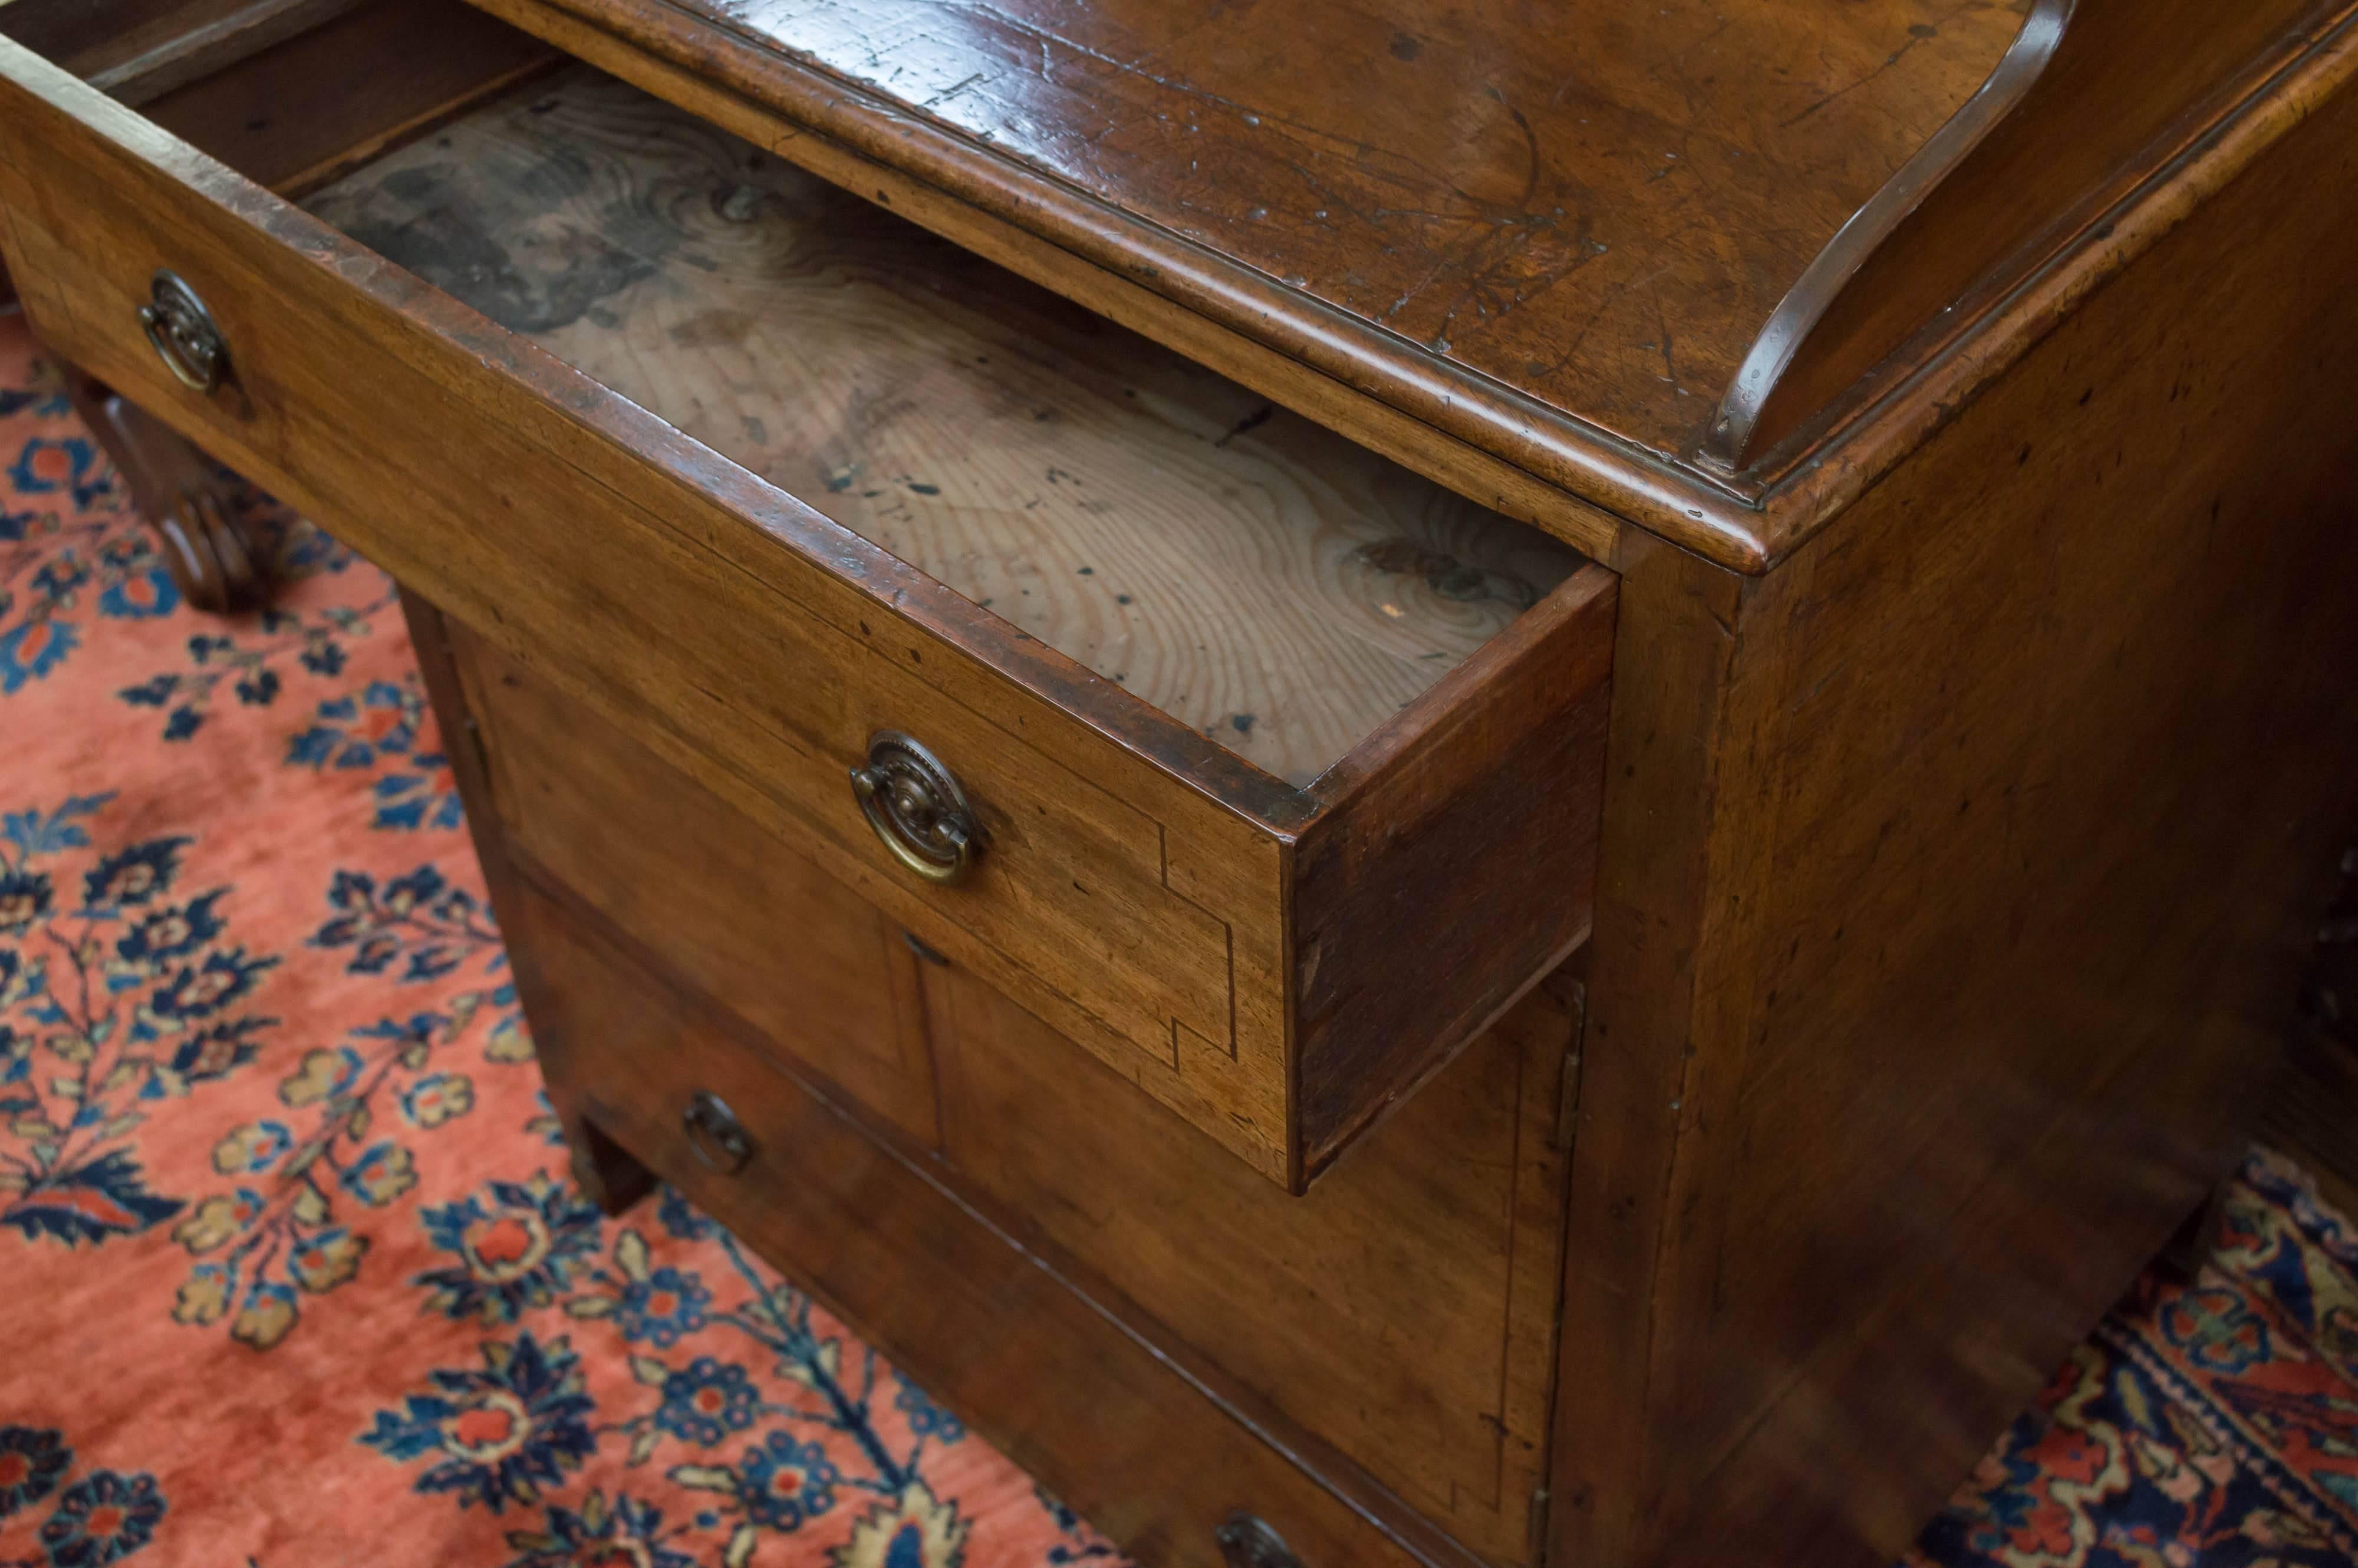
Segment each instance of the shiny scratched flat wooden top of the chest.
[{"label": "shiny scratched flat wooden top of the chest", "polygon": [[816,68],[1658,453],[2023,24],[1985,0],[561,2]]}]

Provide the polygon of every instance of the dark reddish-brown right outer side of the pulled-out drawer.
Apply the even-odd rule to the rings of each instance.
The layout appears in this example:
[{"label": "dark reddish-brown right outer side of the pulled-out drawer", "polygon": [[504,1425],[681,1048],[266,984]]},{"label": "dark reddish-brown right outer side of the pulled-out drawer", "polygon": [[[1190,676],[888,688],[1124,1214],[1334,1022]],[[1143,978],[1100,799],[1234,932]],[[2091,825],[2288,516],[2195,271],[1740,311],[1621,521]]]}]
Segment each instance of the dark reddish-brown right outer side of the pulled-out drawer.
[{"label": "dark reddish-brown right outer side of the pulled-out drawer", "polygon": [[1302,1179],[1589,936],[1620,580],[1587,566],[1328,778],[1295,863]]}]

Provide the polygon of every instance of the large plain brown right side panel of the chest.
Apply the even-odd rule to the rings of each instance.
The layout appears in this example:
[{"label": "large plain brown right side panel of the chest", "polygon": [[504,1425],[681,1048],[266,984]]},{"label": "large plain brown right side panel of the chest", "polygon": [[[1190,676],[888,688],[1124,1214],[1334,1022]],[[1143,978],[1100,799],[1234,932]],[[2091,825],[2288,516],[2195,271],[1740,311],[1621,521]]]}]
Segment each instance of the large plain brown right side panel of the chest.
[{"label": "large plain brown right side panel of the chest", "polygon": [[1889,1561],[2235,1158],[2358,804],[2353,191],[2341,94],[1747,599],[1603,1561]]}]

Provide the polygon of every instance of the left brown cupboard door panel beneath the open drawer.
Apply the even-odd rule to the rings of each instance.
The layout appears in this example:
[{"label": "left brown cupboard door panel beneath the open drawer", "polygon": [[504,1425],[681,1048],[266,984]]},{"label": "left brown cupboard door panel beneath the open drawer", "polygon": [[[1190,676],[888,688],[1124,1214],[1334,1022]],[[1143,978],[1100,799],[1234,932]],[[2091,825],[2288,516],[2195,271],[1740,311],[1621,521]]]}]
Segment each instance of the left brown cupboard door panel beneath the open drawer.
[{"label": "left brown cupboard door panel beneath the open drawer", "polygon": [[882,1118],[938,1144],[922,962],[894,922],[646,747],[441,620],[505,858]]}]

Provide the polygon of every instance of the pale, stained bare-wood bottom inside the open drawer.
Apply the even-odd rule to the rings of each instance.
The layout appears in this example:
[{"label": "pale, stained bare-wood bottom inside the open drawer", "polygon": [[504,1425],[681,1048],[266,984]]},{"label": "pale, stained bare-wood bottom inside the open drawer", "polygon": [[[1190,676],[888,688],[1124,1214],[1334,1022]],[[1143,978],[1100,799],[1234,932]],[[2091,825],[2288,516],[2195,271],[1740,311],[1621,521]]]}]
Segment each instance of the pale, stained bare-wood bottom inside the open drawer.
[{"label": "pale, stained bare-wood bottom inside the open drawer", "polygon": [[307,207],[1295,785],[1580,564],[585,68]]}]

